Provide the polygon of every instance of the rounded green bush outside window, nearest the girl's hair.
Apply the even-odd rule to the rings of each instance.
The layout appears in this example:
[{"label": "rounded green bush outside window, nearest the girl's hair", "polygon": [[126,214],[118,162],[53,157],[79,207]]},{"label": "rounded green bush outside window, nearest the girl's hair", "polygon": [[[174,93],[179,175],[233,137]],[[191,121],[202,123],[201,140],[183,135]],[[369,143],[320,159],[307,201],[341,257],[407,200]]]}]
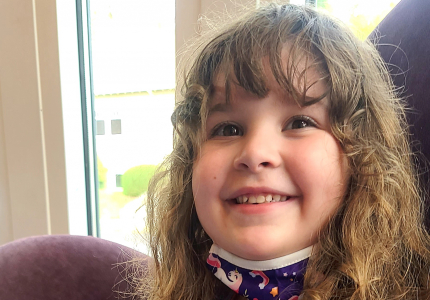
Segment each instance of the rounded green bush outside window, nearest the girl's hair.
[{"label": "rounded green bush outside window, nearest the girl's hair", "polygon": [[154,165],[141,165],[128,169],[121,178],[123,194],[137,197],[145,193],[156,169],[157,166]]}]

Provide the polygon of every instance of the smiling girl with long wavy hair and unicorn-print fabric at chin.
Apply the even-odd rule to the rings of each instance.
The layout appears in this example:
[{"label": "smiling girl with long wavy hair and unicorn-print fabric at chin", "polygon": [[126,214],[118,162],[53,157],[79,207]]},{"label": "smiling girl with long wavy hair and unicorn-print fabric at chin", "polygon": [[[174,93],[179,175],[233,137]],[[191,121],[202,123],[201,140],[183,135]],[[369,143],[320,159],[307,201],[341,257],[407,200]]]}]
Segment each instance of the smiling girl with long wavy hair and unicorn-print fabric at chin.
[{"label": "smiling girl with long wavy hair and unicorn-print fabric at chin", "polygon": [[202,44],[148,192],[149,299],[429,299],[404,109],[375,49],[268,5]]}]

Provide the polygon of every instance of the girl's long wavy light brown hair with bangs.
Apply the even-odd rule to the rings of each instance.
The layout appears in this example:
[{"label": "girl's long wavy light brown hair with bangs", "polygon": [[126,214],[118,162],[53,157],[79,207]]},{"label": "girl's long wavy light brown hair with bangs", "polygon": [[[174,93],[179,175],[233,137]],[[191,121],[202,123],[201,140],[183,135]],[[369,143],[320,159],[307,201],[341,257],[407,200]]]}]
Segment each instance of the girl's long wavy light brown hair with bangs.
[{"label": "girl's long wavy light brown hair with bangs", "polygon": [[[281,59],[286,45],[287,66]],[[374,46],[311,8],[270,4],[218,28],[195,53],[172,115],[173,152],[147,194],[154,261],[152,276],[141,286],[145,298],[232,296],[205,266],[212,241],[193,203],[193,162],[217,75],[225,75],[227,99],[231,84],[263,98],[268,57],[276,81],[300,105],[330,99],[332,134],[350,168],[344,199],[314,246],[304,299],[429,299],[430,240],[405,108]],[[303,60],[304,71],[298,67]],[[297,84],[309,68],[327,86],[317,98]]]}]

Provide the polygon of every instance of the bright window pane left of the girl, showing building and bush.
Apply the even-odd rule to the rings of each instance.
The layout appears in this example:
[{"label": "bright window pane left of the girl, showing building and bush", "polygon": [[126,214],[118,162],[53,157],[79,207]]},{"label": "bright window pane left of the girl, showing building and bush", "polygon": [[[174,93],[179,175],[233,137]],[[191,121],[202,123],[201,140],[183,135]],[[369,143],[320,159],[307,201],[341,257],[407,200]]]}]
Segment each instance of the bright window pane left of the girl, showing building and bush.
[{"label": "bright window pane left of the girl, showing building and bush", "polygon": [[141,251],[138,208],[172,150],[174,13],[174,0],[90,2],[100,236]]}]

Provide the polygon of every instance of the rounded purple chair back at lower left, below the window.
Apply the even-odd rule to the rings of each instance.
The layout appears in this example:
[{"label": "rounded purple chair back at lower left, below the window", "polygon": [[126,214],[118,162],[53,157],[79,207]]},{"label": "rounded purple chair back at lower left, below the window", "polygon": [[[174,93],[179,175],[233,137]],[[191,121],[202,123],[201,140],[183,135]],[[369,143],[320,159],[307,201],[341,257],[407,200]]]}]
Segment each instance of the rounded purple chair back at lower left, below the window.
[{"label": "rounded purple chair back at lower left, below the window", "polygon": [[[1,300],[136,299],[128,283],[147,256],[89,236],[52,235],[0,247]],[[139,260],[136,265],[127,263]]]}]

